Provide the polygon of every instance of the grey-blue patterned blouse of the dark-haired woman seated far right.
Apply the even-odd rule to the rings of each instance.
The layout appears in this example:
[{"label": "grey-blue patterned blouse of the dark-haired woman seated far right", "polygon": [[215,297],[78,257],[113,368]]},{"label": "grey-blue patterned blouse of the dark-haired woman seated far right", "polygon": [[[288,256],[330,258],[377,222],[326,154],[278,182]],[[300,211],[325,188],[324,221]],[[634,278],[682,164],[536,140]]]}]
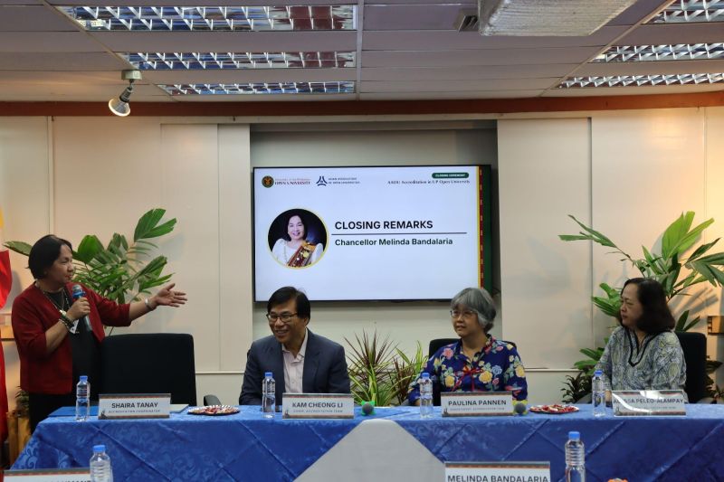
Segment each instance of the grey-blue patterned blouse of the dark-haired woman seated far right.
[{"label": "grey-blue patterned blouse of the dark-haired woman seated far right", "polygon": [[619,326],[595,369],[604,373],[606,390],[683,390],[686,383],[684,353],[670,331],[647,335],[639,346],[636,334]]}]

